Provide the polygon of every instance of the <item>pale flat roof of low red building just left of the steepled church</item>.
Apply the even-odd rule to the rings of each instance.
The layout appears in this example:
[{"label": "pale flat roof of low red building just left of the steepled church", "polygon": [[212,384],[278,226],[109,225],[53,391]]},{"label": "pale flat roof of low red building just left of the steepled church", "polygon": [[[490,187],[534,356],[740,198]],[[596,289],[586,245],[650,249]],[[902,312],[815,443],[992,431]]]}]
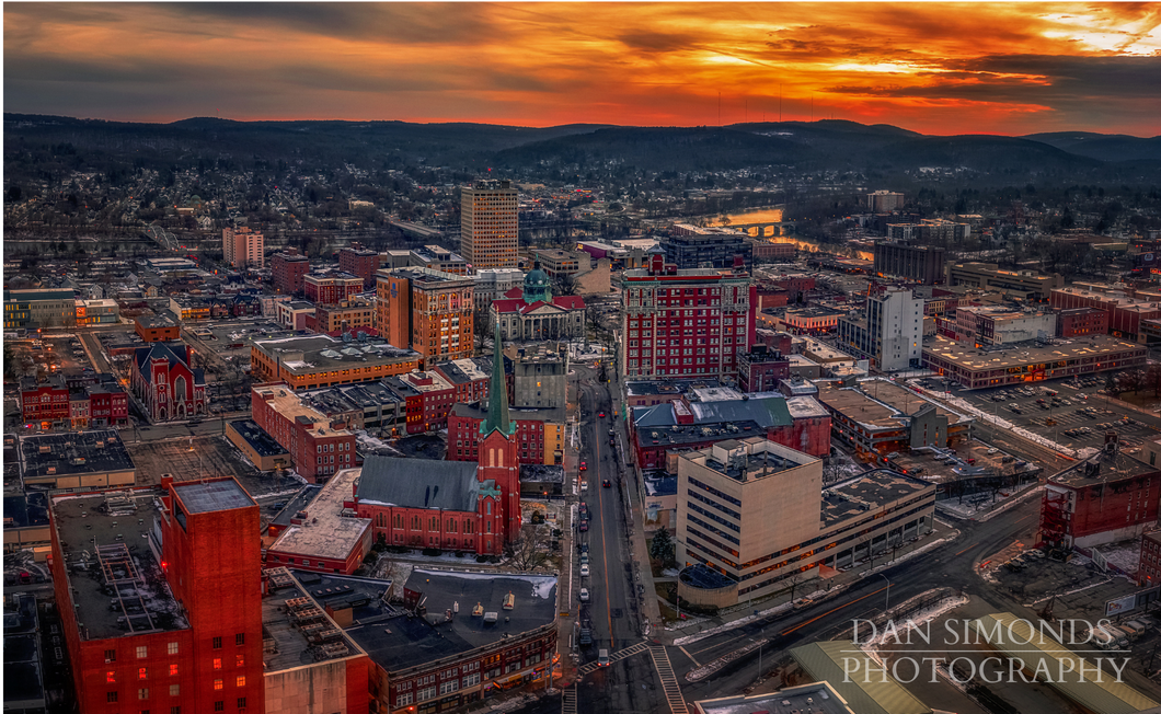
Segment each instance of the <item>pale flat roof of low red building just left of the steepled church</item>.
[{"label": "pale flat roof of low red building just left of the steepled church", "polygon": [[370,528],[369,518],[342,515],[342,503],[354,498],[360,474],[362,469],[344,469],[331,477],[304,509],[304,522],[289,526],[267,550],[345,561]]}]

